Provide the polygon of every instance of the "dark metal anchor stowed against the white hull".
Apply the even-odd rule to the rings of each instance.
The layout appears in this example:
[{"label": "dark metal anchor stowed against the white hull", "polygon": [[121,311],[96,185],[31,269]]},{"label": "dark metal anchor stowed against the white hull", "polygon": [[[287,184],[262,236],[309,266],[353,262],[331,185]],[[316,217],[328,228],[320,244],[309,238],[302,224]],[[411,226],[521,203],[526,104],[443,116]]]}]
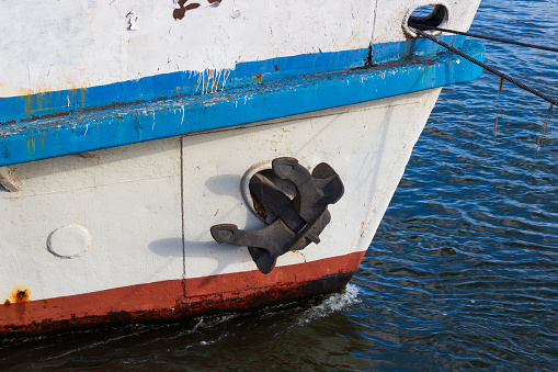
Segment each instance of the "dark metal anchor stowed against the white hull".
[{"label": "dark metal anchor stowed against the white hull", "polygon": [[249,190],[257,214],[267,226],[242,230],[220,224],[210,232],[217,243],[248,247],[264,274],[273,270],[277,257],[320,243],[319,235],[331,221],[328,205],[337,203],[344,192],[339,174],[326,162],[310,173],[288,157],[276,158],[271,170],[255,173]]}]

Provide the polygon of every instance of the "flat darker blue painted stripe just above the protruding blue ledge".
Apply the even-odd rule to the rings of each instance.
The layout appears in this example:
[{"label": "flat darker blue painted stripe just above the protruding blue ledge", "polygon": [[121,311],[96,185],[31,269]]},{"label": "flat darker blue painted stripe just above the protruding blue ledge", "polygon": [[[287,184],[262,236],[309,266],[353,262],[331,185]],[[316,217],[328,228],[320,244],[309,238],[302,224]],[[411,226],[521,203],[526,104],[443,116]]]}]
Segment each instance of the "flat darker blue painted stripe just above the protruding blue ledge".
[{"label": "flat darker blue painted stripe just above the protruding blue ledge", "polygon": [[[463,36],[444,36],[456,47]],[[405,60],[412,56],[434,54],[440,46],[425,40],[386,43],[373,46],[373,63]],[[0,124],[46,115],[81,112],[115,104],[148,102],[243,88],[305,75],[364,67],[369,49],[317,53],[237,64],[234,70],[172,72],[100,87],[60,90],[37,94],[0,98]],[[214,77],[210,78],[210,75]],[[219,76],[216,79],[215,76]]]}]

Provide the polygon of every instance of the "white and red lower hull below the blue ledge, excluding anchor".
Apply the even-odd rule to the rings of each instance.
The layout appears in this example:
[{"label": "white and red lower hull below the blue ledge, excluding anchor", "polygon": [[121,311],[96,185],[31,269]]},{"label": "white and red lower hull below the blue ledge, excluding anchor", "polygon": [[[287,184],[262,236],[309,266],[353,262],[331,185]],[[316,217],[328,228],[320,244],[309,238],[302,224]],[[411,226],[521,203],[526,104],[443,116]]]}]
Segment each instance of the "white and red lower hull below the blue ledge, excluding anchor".
[{"label": "white and red lower hull below the blue ledge, excluding anchor", "polygon": [[[18,221],[0,227],[10,258],[0,271],[1,331],[247,309],[339,290],[368,248],[439,92],[10,167],[21,191],[0,193],[0,207]],[[282,156],[308,168],[329,162],[345,194],[329,207],[319,244],[281,256],[262,274],[246,247],[217,244],[209,227],[264,226],[242,180]],[[79,240],[82,230],[88,239]],[[60,232],[69,240],[55,239]]]}]

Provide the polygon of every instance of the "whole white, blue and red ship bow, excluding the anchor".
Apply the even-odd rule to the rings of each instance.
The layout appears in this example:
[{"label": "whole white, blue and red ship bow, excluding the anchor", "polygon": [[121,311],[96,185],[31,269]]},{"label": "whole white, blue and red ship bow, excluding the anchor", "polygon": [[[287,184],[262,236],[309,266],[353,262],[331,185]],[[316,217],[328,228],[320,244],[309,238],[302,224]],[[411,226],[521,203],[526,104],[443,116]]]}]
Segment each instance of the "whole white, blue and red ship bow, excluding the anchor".
[{"label": "whole white, blue and red ship bow, excluding the anchor", "polygon": [[[0,114],[0,334],[247,309],[333,291],[350,280],[440,87],[479,70],[444,56],[405,61],[401,22],[426,2],[320,3],[300,15],[298,2],[189,8],[145,1],[134,9],[65,2],[60,22],[72,25],[71,41],[56,29],[45,41],[50,56],[30,59],[19,49],[2,65],[9,79],[2,79],[0,105],[23,109]],[[440,4],[457,29],[468,27],[478,7]],[[341,26],[324,14],[352,21]],[[77,15],[87,22],[76,22]],[[197,31],[195,42],[183,37],[219,16],[223,26]],[[272,21],[262,24],[264,16]],[[287,19],[293,33],[322,33],[295,37],[287,47],[292,36],[276,36]],[[254,30],[265,32],[246,45],[228,43]],[[7,48],[21,42],[10,37]],[[216,41],[227,46],[217,48]],[[368,50],[371,41],[379,47]],[[145,54],[153,43],[163,59]],[[435,54],[412,46],[425,58]],[[186,47],[204,53],[184,57]],[[316,59],[316,49],[331,54]],[[371,66],[372,52],[373,63],[400,65]],[[60,55],[66,59],[45,65]],[[320,70],[330,64],[341,71]],[[262,69],[267,72],[255,74]],[[227,88],[231,76],[242,83]],[[169,95],[174,79],[201,86]],[[278,157],[295,157],[308,169],[328,162],[345,192],[329,206],[321,241],[278,257],[263,274],[246,247],[217,244],[209,227],[264,226],[246,180]]]}]

